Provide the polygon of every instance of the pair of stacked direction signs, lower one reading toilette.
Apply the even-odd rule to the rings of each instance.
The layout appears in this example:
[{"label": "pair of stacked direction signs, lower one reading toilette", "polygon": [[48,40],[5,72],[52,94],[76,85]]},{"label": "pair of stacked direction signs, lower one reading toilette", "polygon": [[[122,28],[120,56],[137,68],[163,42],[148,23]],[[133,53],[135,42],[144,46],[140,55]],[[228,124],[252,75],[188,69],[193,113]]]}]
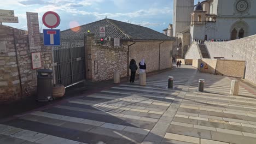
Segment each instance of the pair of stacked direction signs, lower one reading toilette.
[{"label": "pair of stacked direction signs, lower one reading toilette", "polygon": [[14,10],[5,10],[0,9],[0,22],[11,22],[11,23],[19,23],[19,19],[17,16],[14,16]]}]

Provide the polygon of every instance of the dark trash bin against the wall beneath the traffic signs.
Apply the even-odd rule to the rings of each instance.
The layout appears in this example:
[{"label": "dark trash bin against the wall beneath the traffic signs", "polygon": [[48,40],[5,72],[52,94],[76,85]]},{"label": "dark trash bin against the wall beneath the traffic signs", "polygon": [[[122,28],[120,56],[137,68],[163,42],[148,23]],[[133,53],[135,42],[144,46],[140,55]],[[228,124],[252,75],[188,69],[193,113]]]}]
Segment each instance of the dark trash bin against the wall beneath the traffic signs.
[{"label": "dark trash bin against the wall beneath the traffic signs", "polygon": [[37,70],[37,101],[53,100],[53,70]]}]

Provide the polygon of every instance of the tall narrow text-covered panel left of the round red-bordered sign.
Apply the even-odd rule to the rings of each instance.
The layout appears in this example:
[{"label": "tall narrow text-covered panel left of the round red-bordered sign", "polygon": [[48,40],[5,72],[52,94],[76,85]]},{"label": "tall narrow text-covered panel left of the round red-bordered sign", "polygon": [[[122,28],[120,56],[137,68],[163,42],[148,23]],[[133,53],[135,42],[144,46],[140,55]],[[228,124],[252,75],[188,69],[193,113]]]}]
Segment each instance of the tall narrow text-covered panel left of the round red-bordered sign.
[{"label": "tall narrow text-covered panel left of the round red-bordered sign", "polygon": [[30,50],[41,49],[38,13],[27,12],[27,30]]}]

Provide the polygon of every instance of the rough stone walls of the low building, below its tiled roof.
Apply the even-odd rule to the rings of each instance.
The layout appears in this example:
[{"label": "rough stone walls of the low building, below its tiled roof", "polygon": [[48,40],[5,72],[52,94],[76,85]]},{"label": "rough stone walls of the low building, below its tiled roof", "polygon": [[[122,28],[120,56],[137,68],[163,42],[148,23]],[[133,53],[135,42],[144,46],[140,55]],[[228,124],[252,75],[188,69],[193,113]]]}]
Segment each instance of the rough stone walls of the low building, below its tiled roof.
[{"label": "rough stone walls of the low building, below its tiled roof", "polygon": [[[114,71],[119,71],[120,77],[127,76],[127,72],[130,75],[130,69],[127,66],[131,59],[135,59],[138,65],[144,58],[147,64],[147,73],[159,69],[171,68],[173,41],[162,42],[120,41],[120,47],[114,47],[113,41],[107,40],[102,45],[94,39],[93,34],[90,34],[85,40],[86,79],[93,81],[110,80],[114,77]],[[129,59],[127,59],[128,47]],[[138,73],[139,69],[137,70]]]}]

